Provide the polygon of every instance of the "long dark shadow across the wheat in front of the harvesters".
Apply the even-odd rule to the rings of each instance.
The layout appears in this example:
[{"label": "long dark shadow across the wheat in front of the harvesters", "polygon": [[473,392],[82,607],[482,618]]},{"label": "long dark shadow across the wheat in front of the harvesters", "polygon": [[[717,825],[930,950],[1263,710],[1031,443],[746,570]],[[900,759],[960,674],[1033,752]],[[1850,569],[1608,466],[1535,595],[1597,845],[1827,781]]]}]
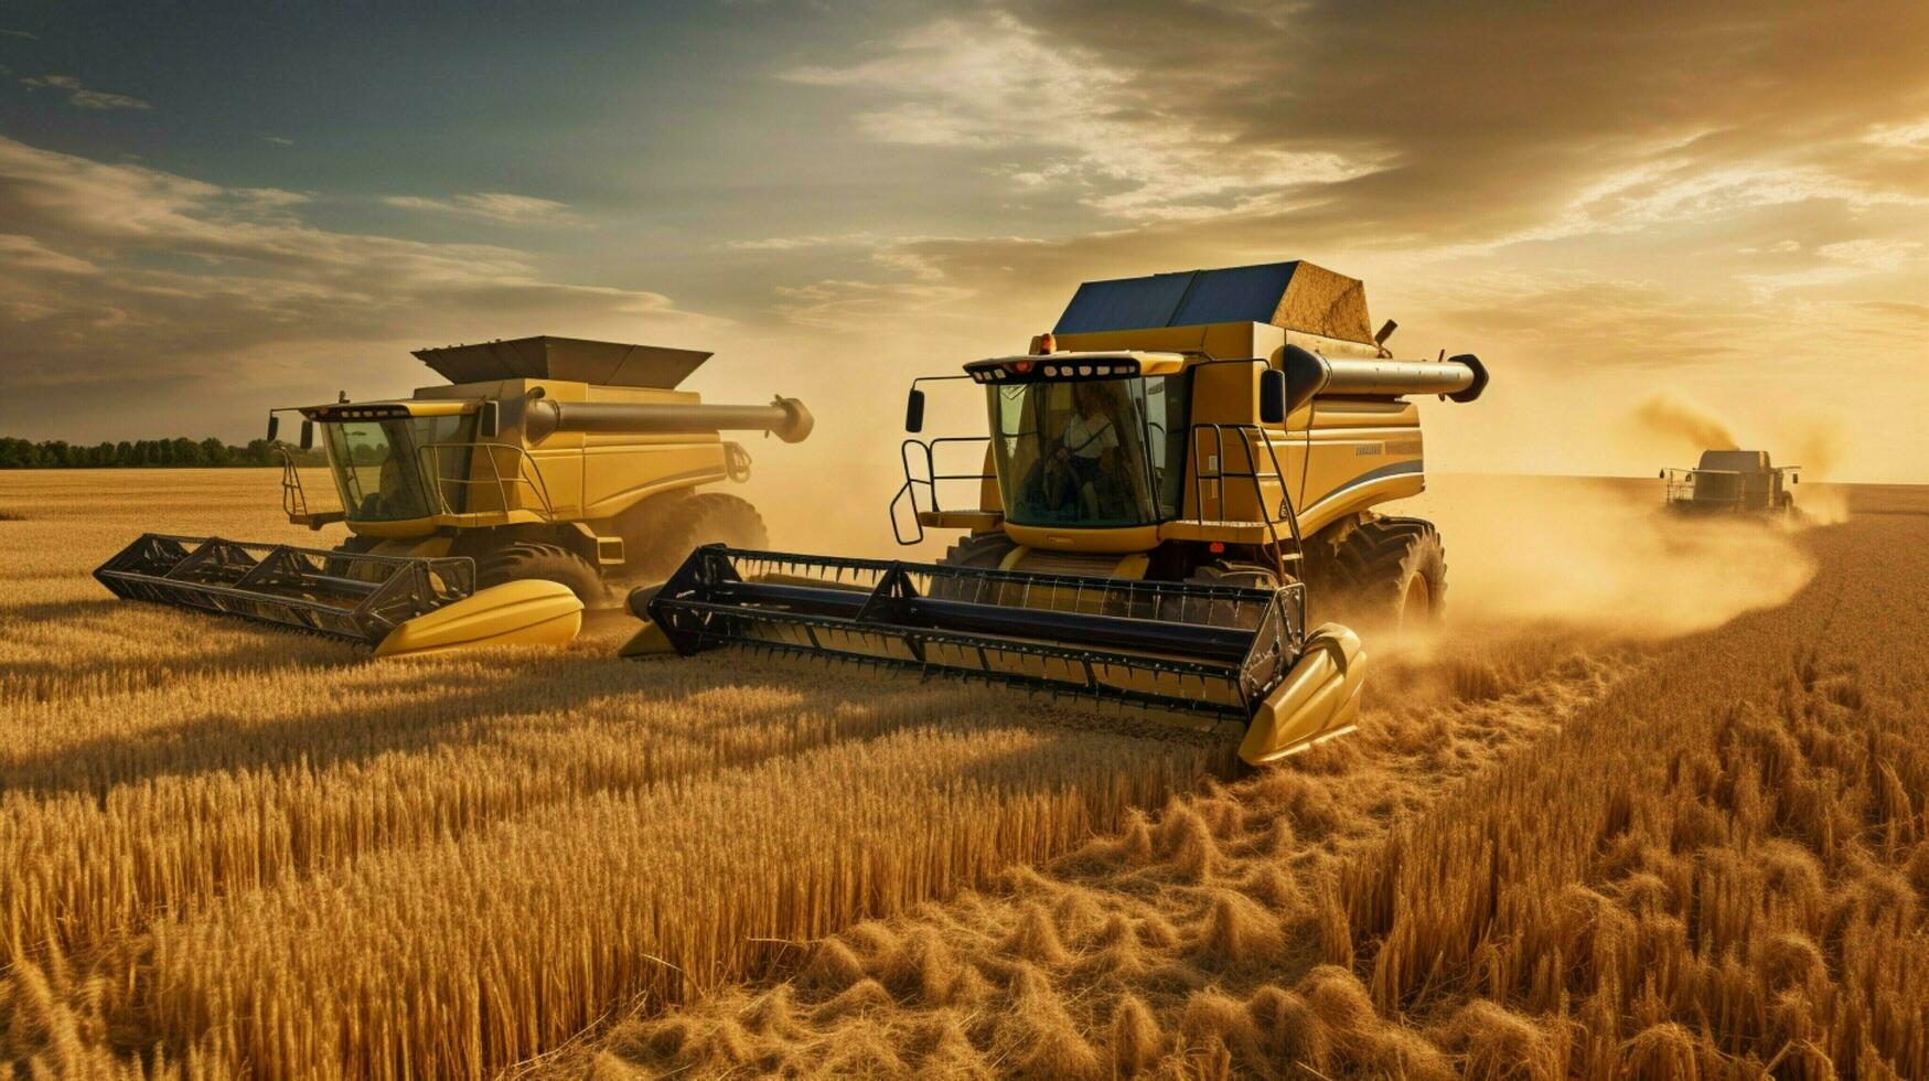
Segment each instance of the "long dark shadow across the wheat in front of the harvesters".
[{"label": "long dark shadow across the wheat in front of the harvesters", "polygon": [[[741,697],[745,691],[754,693],[764,708],[775,705],[799,718],[833,718],[851,710],[876,716],[876,724],[856,724],[855,734],[829,741],[868,739],[916,724],[943,724],[951,716],[961,720],[974,716],[978,718],[974,724],[1003,716],[1001,703],[959,701],[959,687],[951,681],[920,681],[910,672],[889,672],[880,678],[876,668],[847,664],[820,666],[791,658],[777,658],[775,664],[766,658],[756,666],[716,664],[718,658],[708,658],[708,664],[673,658],[637,662],[583,656],[581,651],[544,656],[513,651],[505,654],[505,660],[513,656],[513,664],[500,666],[490,666],[488,658],[478,654],[403,664],[370,662],[361,656],[305,656],[260,664],[264,654],[272,656],[274,643],[285,639],[274,631],[264,635],[268,641],[260,651],[237,645],[230,652],[210,656],[208,666],[268,679],[297,666],[340,668],[338,695],[291,703],[299,708],[272,718],[228,708],[197,710],[158,726],[14,757],[0,761],[0,791],[106,797],[120,786],[168,776],[293,766],[322,772],[384,755],[424,755],[475,745],[498,745],[513,757],[519,753],[513,745],[515,735],[575,726],[633,730],[642,747],[662,734],[666,724],[664,716],[652,714],[648,707],[673,710],[679,739],[714,743],[718,755],[710,768],[723,770],[770,757],[725,753],[743,718],[729,708],[704,708],[708,697]],[[62,670],[62,662],[10,664],[0,679],[31,685],[33,679],[56,670]],[[64,672],[64,679],[73,678],[71,666]],[[864,695],[853,697],[853,681],[862,683]],[[992,708],[986,708],[988,703]],[[625,705],[644,708],[631,712],[623,708]],[[1024,695],[1011,699],[1011,716],[1057,720],[1069,728],[1107,728],[1101,722],[1082,722],[1065,707],[1047,707],[1040,714],[1038,705],[1026,705]],[[183,747],[193,751],[183,755]]]}]

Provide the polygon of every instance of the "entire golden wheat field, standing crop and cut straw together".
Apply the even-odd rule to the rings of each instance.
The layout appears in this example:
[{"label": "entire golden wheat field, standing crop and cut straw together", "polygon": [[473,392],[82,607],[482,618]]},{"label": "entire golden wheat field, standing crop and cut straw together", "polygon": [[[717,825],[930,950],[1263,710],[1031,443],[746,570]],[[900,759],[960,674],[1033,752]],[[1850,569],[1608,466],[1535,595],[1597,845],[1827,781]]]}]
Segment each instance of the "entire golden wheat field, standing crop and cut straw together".
[{"label": "entire golden wheat field, standing crop and cut straw together", "polygon": [[0,1062],[1923,1075],[1929,502],[1858,500],[1738,540],[1786,581],[1725,620],[1489,591],[1375,643],[1358,737],[1229,784],[1011,691],[623,662],[621,618],[376,664],[116,602],[143,529],[334,537],[272,473],[0,475]]}]

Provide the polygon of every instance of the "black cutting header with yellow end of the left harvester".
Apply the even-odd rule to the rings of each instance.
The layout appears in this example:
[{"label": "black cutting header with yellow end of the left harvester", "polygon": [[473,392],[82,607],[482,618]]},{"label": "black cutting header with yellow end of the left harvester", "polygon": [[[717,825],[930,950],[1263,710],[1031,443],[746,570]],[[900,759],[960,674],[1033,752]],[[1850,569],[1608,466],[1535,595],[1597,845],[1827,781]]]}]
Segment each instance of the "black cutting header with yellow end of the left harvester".
[{"label": "black cutting header with yellow end of the left harvester", "polygon": [[295,627],[415,656],[484,645],[567,645],[583,602],[554,581],[476,591],[469,558],[376,556],[143,533],[95,571],[125,600]]}]

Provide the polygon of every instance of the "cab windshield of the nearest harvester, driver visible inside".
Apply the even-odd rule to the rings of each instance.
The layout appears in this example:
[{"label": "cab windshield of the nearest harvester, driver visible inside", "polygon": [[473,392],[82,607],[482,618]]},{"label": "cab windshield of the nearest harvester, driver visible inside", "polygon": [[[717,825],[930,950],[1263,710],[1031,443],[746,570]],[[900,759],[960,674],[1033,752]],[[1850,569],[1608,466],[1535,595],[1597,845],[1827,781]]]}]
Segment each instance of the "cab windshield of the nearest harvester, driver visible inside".
[{"label": "cab windshield of the nearest harvester, driver visible inside", "polygon": [[992,452],[1015,525],[1117,529],[1179,517],[1184,376],[990,388]]}]

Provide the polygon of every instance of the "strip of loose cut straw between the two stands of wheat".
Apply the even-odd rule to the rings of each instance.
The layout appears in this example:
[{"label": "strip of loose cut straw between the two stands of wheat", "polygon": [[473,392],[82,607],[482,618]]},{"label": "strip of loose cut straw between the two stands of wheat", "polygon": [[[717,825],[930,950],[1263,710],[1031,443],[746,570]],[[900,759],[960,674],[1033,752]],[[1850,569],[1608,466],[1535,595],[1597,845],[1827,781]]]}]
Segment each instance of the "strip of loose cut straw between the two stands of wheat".
[{"label": "strip of loose cut straw between the two stands of wheat", "polygon": [[1449,1075],[1451,1056],[1319,963],[1331,869],[1636,664],[1553,633],[1458,641],[1453,660],[1387,658],[1350,741],[1134,813],[993,892],[824,938],[785,981],[638,1012],[525,1073]]}]

